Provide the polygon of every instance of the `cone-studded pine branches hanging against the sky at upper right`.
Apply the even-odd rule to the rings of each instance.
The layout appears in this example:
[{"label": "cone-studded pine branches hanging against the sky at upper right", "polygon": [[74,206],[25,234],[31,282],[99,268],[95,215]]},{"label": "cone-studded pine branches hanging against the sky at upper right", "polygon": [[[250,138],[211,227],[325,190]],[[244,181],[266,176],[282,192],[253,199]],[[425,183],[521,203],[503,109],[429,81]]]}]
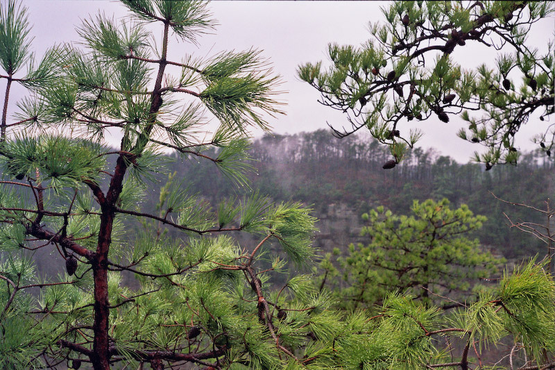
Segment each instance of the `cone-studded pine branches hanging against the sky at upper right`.
[{"label": "cone-studded pine branches hanging against the sky at upper right", "polygon": [[[543,55],[526,40],[536,22],[552,15],[554,3],[395,1],[383,11],[385,24],[370,24],[372,38],[361,47],[330,44],[329,69],[318,62],[298,70],[326,106],[348,113],[352,126],[334,134],[345,137],[368,128],[389,146],[393,159],[384,168],[393,168],[422,135],[406,128],[407,121],[448,122],[450,115],[461,114],[468,130],[459,136],[488,148],[475,153],[475,160],[485,162],[486,169],[516,163],[520,128],[534,112],[541,121],[554,112],[553,40]],[[465,69],[451,54],[470,43],[503,53],[495,66]],[[548,156],[554,133],[551,124],[536,137]]]}]

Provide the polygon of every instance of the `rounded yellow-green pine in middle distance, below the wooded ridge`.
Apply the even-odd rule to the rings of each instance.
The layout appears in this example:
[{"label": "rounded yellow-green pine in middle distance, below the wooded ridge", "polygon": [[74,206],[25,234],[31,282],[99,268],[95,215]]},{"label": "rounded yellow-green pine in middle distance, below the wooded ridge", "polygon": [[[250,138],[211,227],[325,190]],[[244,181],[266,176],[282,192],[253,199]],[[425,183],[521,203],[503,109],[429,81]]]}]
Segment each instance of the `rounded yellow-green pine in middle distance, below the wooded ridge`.
[{"label": "rounded yellow-green pine in middle distance, below the wooded ridge", "polygon": [[469,292],[470,282],[491,276],[503,262],[465,236],[486,218],[466,205],[451,210],[447,199],[413,201],[409,217],[378,207],[362,219],[361,236],[370,242],[351,244],[348,255],[339,258],[348,285],[339,294],[343,308],[370,308],[394,291],[436,302],[438,294]]}]

